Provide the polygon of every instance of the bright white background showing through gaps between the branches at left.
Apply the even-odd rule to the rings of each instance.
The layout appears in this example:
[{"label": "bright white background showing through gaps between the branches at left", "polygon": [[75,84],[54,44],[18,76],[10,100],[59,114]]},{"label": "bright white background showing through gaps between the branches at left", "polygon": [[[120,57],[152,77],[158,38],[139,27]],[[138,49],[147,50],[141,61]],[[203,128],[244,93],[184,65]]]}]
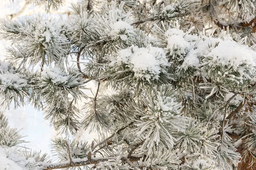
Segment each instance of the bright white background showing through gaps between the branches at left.
[{"label": "bright white background showing through gaps between the branches at left", "polygon": [[[64,0],[64,6],[60,7],[57,13],[64,13],[64,11],[67,11],[70,3],[74,3],[75,1],[77,0]],[[12,0],[0,0],[0,18],[8,18],[8,15],[19,11],[24,3],[24,0],[14,0],[14,3]],[[53,11],[52,13],[56,12]],[[44,6],[35,7],[32,5],[27,6],[19,17],[32,14],[42,14],[45,16],[48,15],[49,17],[59,18],[59,14],[45,14]],[[67,18],[67,14],[61,14],[61,16],[62,18]],[[5,48],[9,45],[11,45],[10,42],[0,40],[0,59],[3,60],[5,58]],[[94,82],[89,82],[88,86],[96,87]],[[92,91],[95,91],[94,88]],[[87,90],[87,93],[90,93],[90,90]],[[2,109],[0,108],[0,110]],[[48,121],[44,120],[42,111],[35,110],[31,105],[26,105],[24,108],[18,108],[16,110],[11,108],[4,113],[9,119],[9,125],[11,127],[22,129],[20,133],[22,136],[25,136],[23,139],[29,142],[25,144],[26,147],[31,148],[32,150],[42,150],[42,153],[52,155],[49,144],[50,139],[56,136],[56,132],[53,127],[49,126]],[[93,138],[96,137],[96,134],[88,135],[88,133],[84,133],[84,131],[81,131],[78,134],[77,139],[87,140],[88,142],[91,142]]]}]

